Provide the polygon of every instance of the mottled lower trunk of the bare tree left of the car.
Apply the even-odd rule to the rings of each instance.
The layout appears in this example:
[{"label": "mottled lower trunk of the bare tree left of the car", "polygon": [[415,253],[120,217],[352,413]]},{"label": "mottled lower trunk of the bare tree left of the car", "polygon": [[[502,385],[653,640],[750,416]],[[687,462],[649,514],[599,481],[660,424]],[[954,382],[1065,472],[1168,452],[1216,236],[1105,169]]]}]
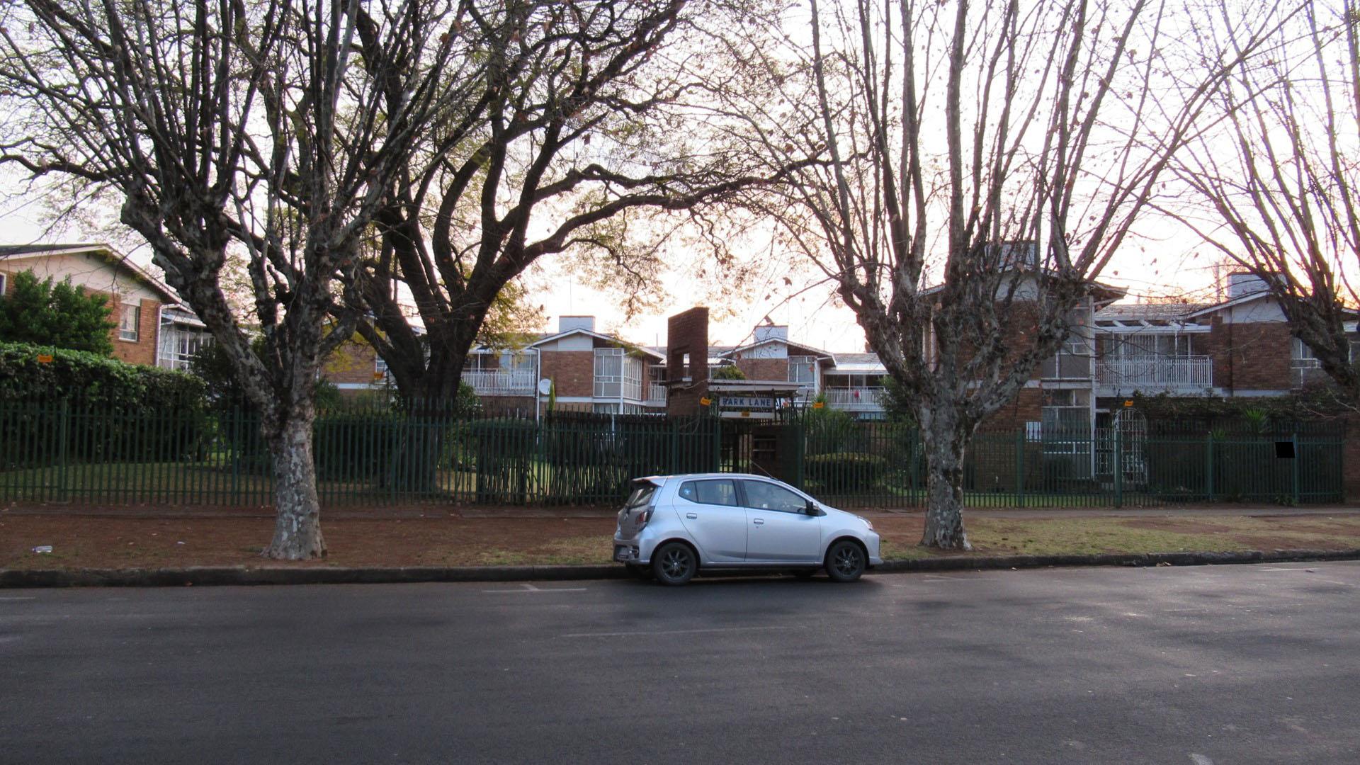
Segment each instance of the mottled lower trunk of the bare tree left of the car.
[{"label": "mottled lower trunk of the bare tree left of the car", "polygon": [[310,410],[291,412],[282,425],[269,429],[276,516],[273,542],[262,553],[265,558],[306,561],[326,554],[326,543],[321,538],[317,470],[311,460],[314,419],[316,412]]}]

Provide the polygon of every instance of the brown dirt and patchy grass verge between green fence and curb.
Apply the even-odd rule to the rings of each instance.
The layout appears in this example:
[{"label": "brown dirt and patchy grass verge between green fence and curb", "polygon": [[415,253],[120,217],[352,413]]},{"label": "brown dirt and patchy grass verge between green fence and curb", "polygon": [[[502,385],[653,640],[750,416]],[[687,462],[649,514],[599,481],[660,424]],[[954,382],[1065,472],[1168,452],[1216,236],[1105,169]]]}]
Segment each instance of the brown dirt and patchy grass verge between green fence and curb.
[{"label": "brown dirt and patchy grass verge between green fence and curb", "polygon": [[[608,508],[384,508],[322,513],[329,555],[303,564],[260,558],[273,534],[265,508],[68,508],[0,510],[0,569],[184,569],[193,566],[457,568],[608,565]],[[914,512],[865,513],[889,561],[948,555],[919,547]],[[966,510],[971,557],[1145,555],[1360,549],[1352,508]],[[35,553],[34,547],[52,547]]]}]

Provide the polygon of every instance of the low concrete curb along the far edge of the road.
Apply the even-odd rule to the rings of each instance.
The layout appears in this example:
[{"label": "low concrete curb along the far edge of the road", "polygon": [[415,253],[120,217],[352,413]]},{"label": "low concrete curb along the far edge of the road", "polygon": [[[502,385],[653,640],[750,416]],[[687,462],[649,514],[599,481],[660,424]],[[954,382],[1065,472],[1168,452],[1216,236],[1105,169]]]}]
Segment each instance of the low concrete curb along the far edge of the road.
[{"label": "low concrete curb along the far edge of the road", "polygon": [[[1247,550],[1239,553],[1132,553],[1106,555],[947,555],[888,561],[874,573],[1028,569],[1040,566],[1205,566],[1356,561],[1356,550]],[[400,584],[416,581],[560,581],[626,579],[620,565],[592,566],[409,566],[340,569],[325,566],[192,566],[185,569],[0,569],[0,588],[22,587],[211,587],[256,584]]]}]

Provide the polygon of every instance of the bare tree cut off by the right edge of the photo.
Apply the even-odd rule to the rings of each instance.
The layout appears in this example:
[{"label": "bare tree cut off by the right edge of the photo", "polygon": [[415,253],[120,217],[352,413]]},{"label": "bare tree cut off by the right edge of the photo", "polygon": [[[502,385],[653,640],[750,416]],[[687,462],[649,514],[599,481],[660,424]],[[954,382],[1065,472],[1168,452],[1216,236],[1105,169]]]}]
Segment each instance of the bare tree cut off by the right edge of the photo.
[{"label": "bare tree cut off by the right edge of the photo", "polygon": [[[1236,53],[1240,42],[1216,20],[1197,26],[1201,45]],[[1360,404],[1345,332],[1360,305],[1357,25],[1352,0],[1303,3],[1281,19],[1214,99],[1223,129],[1175,165],[1209,208],[1175,216],[1261,278],[1352,407]]]}]

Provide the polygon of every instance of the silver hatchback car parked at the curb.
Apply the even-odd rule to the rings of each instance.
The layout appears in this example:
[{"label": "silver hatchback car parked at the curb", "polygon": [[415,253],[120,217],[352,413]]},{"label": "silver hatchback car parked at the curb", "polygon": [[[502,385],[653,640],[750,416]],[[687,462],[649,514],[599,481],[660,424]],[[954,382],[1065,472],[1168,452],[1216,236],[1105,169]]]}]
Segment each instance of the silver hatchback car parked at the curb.
[{"label": "silver hatchback car parked at the curb", "polygon": [[684,584],[700,568],[801,576],[824,568],[835,581],[854,581],[883,562],[868,520],[787,483],[732,472],[635,479],[619,510],[613,559],[664,584]]}]

